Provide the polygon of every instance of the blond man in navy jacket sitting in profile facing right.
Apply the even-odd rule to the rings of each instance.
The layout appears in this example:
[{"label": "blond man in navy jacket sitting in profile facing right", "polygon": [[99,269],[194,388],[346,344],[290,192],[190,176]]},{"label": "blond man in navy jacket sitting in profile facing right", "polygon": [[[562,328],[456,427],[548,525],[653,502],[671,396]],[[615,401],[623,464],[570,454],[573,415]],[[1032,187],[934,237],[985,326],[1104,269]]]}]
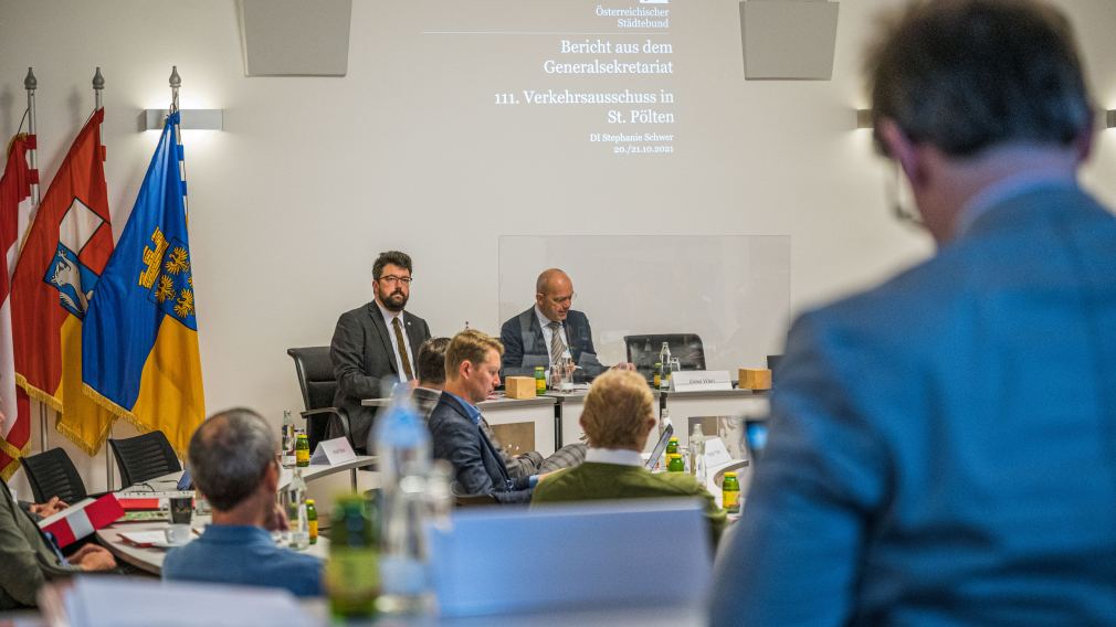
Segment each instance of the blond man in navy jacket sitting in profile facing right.
[{"label": "blond man in navy jacket sitting in profile facing right", "polygon": [[427,426],[434,456],[453,464],[458,490],[485,494],[499,503],[527,503],[539,475],[512,476],[500,450],[481,428],[477,404],[500,385],[503,345],[469,329],[453,336],[445,349],[445,387]]}]

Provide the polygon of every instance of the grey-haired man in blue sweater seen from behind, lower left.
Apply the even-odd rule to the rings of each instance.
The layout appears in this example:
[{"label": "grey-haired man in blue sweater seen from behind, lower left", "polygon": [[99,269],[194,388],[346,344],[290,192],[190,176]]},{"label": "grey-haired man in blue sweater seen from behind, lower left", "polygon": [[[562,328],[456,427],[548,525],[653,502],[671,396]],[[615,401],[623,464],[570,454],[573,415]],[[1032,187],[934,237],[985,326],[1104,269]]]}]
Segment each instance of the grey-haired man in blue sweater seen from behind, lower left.
[{"label": "grey-haired man in blue sweater seen from behind, lower left", "polygon": [[277,547],[269,529],[286,517],[276,507],[279,465],[272,428],[251,409],[221,412],[190,440],[194,484],[213,508],[213,522],[163,562],[167,580],[285,588],[321,594],[321,561]]}]

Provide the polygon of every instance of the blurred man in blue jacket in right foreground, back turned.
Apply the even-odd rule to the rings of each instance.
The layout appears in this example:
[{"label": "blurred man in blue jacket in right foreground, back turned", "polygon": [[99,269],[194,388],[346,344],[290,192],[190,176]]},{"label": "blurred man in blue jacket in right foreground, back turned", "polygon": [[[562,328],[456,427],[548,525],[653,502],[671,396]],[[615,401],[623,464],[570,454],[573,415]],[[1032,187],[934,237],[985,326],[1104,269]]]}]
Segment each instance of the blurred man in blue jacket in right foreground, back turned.
[{"label": "blurred man in blue jacket in right foreground, back turned", "polygon": [[1116,218],[1069,23],[921,1],[867,68],[939,251],[795,322],[713,624],[1110,625]]}]

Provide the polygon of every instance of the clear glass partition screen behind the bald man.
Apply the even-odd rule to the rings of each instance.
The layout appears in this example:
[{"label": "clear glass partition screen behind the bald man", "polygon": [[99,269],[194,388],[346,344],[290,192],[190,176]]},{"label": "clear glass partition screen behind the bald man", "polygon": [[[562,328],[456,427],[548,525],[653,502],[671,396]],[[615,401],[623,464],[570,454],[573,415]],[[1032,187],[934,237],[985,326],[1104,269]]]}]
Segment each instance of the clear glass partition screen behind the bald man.
[{"label": "clear glass partition screen behind the bald man", "polygon": [[[605,365],[628,360],[624,338],[637,335],[695,335],[706,369],[733,377],[781,351],[788,235],[501,235],[500,324],[533,307],[547,268],[570,276],[573,309],[588,317]],[[646,341],[634,343],[635,357]]]}]

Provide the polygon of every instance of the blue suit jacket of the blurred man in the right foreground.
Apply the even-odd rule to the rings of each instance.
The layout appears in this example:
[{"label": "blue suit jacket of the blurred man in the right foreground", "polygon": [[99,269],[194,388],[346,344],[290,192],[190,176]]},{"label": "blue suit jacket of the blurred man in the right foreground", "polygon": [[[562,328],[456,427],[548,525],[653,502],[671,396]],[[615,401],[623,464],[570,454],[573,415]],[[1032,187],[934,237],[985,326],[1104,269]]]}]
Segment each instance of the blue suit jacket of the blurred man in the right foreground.
[{"label": "blue suit jacket of the blurred man in the right foreground", "polygon": [[1116,219],[1008,199],[791,328],[714,625],[1116,621]]}]

